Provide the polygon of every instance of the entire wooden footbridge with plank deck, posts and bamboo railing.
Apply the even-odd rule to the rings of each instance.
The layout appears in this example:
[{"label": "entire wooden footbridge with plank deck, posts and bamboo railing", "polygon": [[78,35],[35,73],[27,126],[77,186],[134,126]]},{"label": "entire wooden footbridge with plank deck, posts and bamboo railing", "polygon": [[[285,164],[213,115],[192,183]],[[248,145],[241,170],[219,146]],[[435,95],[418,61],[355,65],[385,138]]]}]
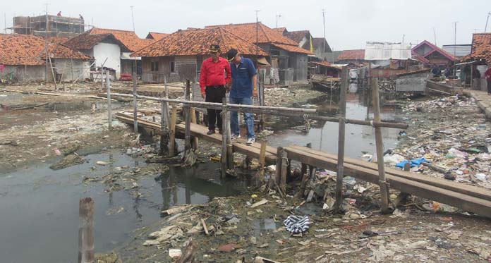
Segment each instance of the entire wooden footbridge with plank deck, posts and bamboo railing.
[{"label": "entire wooden footbridge with plank deck, posts and bamboo railing", "polygon": [[[298,161],[303,166],[315,166],[321,169],[327,169],[337,172],[336,185],[336,204],[338,207],[342,202],[343,177],[352,176],[363,181],[375,183],[380,186],[380,207],[382,212],[389,212],[388,189],[394,188],[401,191],[400,196],[416,195],[429,200],[435,200],[444,204],[449,204],[454,207],[459,207],[464,211],[473,212],[491,218],[491,191],[483,188],[461,185],[444,179],[433,178],[420,173],[410,173],[396,169],[384,167],[383,163],[383,142],[380,128],[407,128],[404,123],[387,123],[380,119],[380,102],[378,94],[377,80],[372,80],[372,99],[374,108],[374,120],[362,121],[346,118],[346,86],[347,86],[347,69],[344,68],[340,89],[340,105],[339,116],[320,116],[315,109],[298,109],[272,106],[250,106],[226,104],[224,99],[223,104],[210,102],[195,102],[189,97],[189,82],[187,83],[188,91],[186,99],[168,99],[166,97],[145,97],[137,95],[135,90],[135,82],[133,82],[133,95],[131,94],[115,94],[120,97],[133,97],[134,111],[133,116],[126,114],[116,114],[116,118],[128,124],[133,124],[135,132],[138,132],[138,127],[154,130],[155,133],[161,135],[161,149],[170,145],[168,154],[174,155],[174,139],[175,137],[183,137],[185,140],[184,159],[188,158],[188,154],[193,154],[191,149],[191,137],[193,137],[193,148],[198,149],[198,138],[210,141],[214,144],[222,145],[222,175],[226,169],[233,168],[233,154],[238,152],[246,157],[256,158],[260,160],[260,164],[264,167],[266,163],[276,163],[277,173],[275,183],[279,185],[279,190],[286,189],[286,177],[291,174],[291,161]],[[108,101],[110,101],[110,93],[108,89]],[[146,99],[157,101],[162,104],[162,121],[155,123],[137,118],[137,99]],[[169,121],[169,104],[174,104],[172,114]],[[183,106],[185,123],[176,123],[176,104]],[[222,135],[212,134],[207,135],[207,128],[196,124],[192,121],[195,114],[193,107],[221,109],[224,116]],[[109,120],[111,119],[111,108],[109,105]],[[296,116],[303,118],[315,119],[318,121],[331,121],[339,123],[339,140],[337,155],[327,152],[320,152],[307,147],[298,145],[289,145],[287,147],[269,147],[266,142],[256,142],[253,145],[245,145],[243,140],[238,142],[231,141],[231,131],[229,128],[230,111],[249,111],[256,114],[272,114],[277,116]],[[194,122],[194,123],[192,123]],[[377,164],[350,159],[344,157],[344,133],[345,125],[364,125],[372,126],[375,129],[375,145],[377,147]],[[169,140],[170,137],[170,140]],[[281,191],[280,191],[281,192]],[[399,198],[398,198],[399,199]],[[396,205],[395,205],[396,206]]]}]

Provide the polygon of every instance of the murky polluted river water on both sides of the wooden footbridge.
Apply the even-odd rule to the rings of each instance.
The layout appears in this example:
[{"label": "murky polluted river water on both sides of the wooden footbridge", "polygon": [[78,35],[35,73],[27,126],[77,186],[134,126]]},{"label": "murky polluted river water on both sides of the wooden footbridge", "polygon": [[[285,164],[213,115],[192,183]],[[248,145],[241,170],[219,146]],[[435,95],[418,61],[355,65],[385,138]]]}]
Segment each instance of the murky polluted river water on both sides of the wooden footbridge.
[{"label": "murky polluted river water on both sides of the wooden footbridge", "polygon": [[[293,106],[315,107],[334,116],[338,99],[326,94]],[[372,119],[368,91],[351,85],[346,101],[347,118]],[[400,113],[395,103],[382,99],[383,120],[401,121]],[[274,132],[268,137],[269,145],[310,143],[313,149],[337,152],[338,123],[308,123],[309,130],[302,118],[269,117],[265,123]],[[382,129],[385,149],[396,147],[400,131]],[[96,252],[109,252],[132,240],[135,229],[161,219],[162,210],[174,204],[205,204],[214,197],[240,195],[250,185],[245,179],[220,178],[219,162],[206,156],[188,169],[159,169],[153,164],[148,169],[144,158],[126,154],[126,150],[107,145],[97,152],[79,153],[83,163],[64,169],[50,169],[51,160],[0,173],[1,262],[74,262],[81,197],[92,197],[95,202]],[[346,155],[359,159],[374,153],[374,129],[346,125]],[[121,183],[112,180],[113,174],[138,177],[123,178]],[[276,227],[268,219],[254,224],[258,229]]]}]

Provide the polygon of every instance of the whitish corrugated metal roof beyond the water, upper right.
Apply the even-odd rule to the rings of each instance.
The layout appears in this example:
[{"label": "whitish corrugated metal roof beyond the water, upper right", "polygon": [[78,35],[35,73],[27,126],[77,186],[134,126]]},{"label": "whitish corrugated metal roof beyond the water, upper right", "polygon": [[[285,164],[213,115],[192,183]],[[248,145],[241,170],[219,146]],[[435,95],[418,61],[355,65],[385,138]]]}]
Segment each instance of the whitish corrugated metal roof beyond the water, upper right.
[{"label": "whitish corrugated metal roof beyond the water, upper right", "polygon": [[411,44],[367,42],[365,60],[411,59]]}]

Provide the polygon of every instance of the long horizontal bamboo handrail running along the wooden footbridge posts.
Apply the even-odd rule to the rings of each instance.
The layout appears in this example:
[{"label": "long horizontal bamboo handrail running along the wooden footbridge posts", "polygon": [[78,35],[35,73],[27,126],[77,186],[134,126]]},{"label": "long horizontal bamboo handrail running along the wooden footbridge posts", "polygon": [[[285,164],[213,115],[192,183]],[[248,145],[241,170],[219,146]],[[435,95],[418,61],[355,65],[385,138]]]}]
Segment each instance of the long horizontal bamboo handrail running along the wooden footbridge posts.
[{"label": "long horizontal bamboo handrail running along the wooden footbridge posts", "polygon": [[[118,97],[133,97],[131,94],[122,94],[122,93],[114,93],[114,96]],[[251,106],[251,105],[243,105],[243,104],[227,104],[224,108],[223,104],[213,103],[213,102],[193,102],[186,101],[181,99],[159,99],[155,97],[147,97],[137,95],[138,99],[147,99],[153,100],[157,102],[169,102],[173,104],[183,104],[186,106],[195,106],[198,108],[207,108],[207,109],[227,109],[229,111],[249,111],[258,114],[271,114],[277,116],[286,116],[286,117],[303,117],[305,114],[308,114],[308,118],[317,121],[328,121],[339,123],[341,117],[328,117],[328,116],[317,116],[318,114],[316,109],[298,109],[298,108],[286,108],[286,107],[270,107],[270,106]],[[268,108],[268,109],[265,109]],[[274,109],[269,109],[274,108]],[[310,115],[313,114],[313,115]],[[354,120],[349,118],[343,118],[346,124],[356,124],[363,126],[375,126],[375,127],[384,127],[384,128],[398,128],[398,129],[406,129],[408,125],[406,123],[392,123],[392,122],[384,122],[384,121],[363,121],[363,120]]]}]

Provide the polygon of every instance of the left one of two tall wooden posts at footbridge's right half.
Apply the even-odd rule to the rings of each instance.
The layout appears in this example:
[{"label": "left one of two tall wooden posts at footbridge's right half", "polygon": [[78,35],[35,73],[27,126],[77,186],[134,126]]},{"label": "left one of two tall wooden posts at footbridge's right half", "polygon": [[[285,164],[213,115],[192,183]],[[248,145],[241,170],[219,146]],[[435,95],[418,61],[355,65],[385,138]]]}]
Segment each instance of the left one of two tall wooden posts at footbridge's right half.
[{"label": "left one of two tall wooden posts at footbridge's right half", "polygon": [[338,130],[338,160],[336,176],[336,202],[334,210],[339,212],[343,202],[343,176],[344,176],[344,128],[346,124],[346,86],[348,85],[348,67],[341,72],[341,86],[339,87],[339,130]]}]

